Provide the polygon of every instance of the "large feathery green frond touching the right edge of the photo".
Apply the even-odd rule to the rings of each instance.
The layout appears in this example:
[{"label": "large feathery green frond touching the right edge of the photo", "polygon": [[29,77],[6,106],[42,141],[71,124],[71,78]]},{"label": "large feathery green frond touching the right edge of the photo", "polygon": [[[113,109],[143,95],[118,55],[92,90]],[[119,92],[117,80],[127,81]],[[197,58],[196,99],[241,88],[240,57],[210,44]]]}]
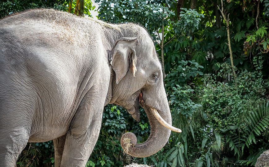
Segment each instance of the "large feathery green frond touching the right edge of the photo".
[{"label": "large feathery green frond touching the right edge of the photo", "polygon": [[256,144],[255,135],[260,136],[269,127],[269,102],[260,102],[256,110],[253,110],[246,120],[249,122],[249,126],[245,130],[248,135],[245,141],[247,147],[252,142]]}]

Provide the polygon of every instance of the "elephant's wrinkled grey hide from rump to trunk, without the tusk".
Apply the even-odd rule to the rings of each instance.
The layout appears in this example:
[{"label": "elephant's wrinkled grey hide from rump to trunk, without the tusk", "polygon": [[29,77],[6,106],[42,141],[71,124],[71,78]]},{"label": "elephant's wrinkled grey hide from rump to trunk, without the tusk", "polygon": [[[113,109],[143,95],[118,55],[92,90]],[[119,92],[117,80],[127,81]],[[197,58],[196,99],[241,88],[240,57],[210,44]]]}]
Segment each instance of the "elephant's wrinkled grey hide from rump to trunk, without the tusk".
[{"label": "elephant's wrinkled grey hide from rump to trunk, without the tusk", "polygon": [[1,20],[0,44],[1,167],[15,166],[27,142],[49,140],[55,167],[84,167],[103,107],[121,105],[139,120],[140,93],[151,134],[128,154],[150,156],[168,141],[170,130],[149,110],[171,124],[161,64],[143,28],[38,9]]}]

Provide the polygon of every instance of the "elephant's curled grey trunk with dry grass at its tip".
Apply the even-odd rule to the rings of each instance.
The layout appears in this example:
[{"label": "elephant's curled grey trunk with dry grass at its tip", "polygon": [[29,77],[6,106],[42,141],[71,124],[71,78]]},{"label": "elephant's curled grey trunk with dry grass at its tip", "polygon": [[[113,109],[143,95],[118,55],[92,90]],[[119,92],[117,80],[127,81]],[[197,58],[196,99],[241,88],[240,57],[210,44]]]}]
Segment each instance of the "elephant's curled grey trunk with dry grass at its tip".
[{"label": "elephant's curled grey trunk with dry grass at its tip", "polygon": [[[136,136],[133,133],[125,133],[121,137],[121,147],[123,150],[127,154],[135,157],[147,157],[155,154],[164,147],[171,133],[170,129],[165,128],[156,119],[150,107],[146,106],[144,103],[142,107],[145,109],[151,127],[151,133],[148,139],[141,144],[136,144]],[[165,108],[164,111],[159,111],[160,116],[167,124],[171,125],[172,119],[168,104]]]}]

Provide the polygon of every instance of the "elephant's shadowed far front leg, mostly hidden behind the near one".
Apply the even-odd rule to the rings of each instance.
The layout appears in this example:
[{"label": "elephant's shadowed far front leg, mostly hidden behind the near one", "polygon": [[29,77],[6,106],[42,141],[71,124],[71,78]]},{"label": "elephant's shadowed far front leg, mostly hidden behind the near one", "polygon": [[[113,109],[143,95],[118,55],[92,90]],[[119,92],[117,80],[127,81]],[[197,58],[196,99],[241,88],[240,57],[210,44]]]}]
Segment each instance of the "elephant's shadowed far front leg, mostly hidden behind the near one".
[{"label": "elephant's shadowed far front leg, mostly hidden behind the near one", "polygon": [[65,143],[66,134],[53,140],[54,143],[54,154],[55,154],[55,167],[61,166],[64,143]]}]

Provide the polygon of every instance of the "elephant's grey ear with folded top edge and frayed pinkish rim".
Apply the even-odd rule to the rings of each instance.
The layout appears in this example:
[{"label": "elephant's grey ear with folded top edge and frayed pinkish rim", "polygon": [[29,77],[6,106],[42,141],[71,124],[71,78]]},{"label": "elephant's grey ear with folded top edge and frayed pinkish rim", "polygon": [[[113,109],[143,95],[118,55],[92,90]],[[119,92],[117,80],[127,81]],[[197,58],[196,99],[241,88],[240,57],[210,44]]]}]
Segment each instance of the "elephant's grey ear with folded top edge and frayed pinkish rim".
[{"label": "elephant's grey ear with folded top edge and frayed pinkish rim", "polygon": [[116,84],[126,75],[132,62],[133,73],[136,71],[135,44],[137,38],[120,38],[109,52],[109,63],[116,73]]}]

